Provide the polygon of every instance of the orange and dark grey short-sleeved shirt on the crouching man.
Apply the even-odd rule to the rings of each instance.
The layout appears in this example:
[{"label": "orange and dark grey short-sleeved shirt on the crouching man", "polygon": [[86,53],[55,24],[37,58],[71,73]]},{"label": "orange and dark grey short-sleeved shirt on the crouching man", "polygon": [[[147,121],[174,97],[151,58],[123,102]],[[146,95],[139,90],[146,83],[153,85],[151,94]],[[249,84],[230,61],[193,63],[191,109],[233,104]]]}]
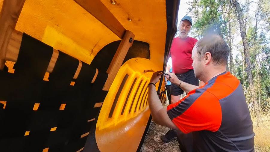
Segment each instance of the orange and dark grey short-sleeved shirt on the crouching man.
[{"label": "orange and dark grey short-sleeved shirt on the crouching man", "polygon": [[224,72],[167,107],[195,151],[254,151],[251,116],[239,80]]}]

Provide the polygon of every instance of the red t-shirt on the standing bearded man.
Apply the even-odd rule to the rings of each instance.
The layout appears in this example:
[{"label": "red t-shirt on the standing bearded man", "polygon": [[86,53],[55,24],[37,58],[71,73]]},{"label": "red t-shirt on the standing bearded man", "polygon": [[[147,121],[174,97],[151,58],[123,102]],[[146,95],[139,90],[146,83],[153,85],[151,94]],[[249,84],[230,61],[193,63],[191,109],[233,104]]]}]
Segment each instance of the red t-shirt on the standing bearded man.
[{"label": "red t-shirt on the standing bearded man", "polygon": [[180,39],[175,37],[172,40],[171,56],[172,56],[172,72],[177,74],[186,73],[193,70],[191,53],[195,43],[198,40],[192,37]]}]

